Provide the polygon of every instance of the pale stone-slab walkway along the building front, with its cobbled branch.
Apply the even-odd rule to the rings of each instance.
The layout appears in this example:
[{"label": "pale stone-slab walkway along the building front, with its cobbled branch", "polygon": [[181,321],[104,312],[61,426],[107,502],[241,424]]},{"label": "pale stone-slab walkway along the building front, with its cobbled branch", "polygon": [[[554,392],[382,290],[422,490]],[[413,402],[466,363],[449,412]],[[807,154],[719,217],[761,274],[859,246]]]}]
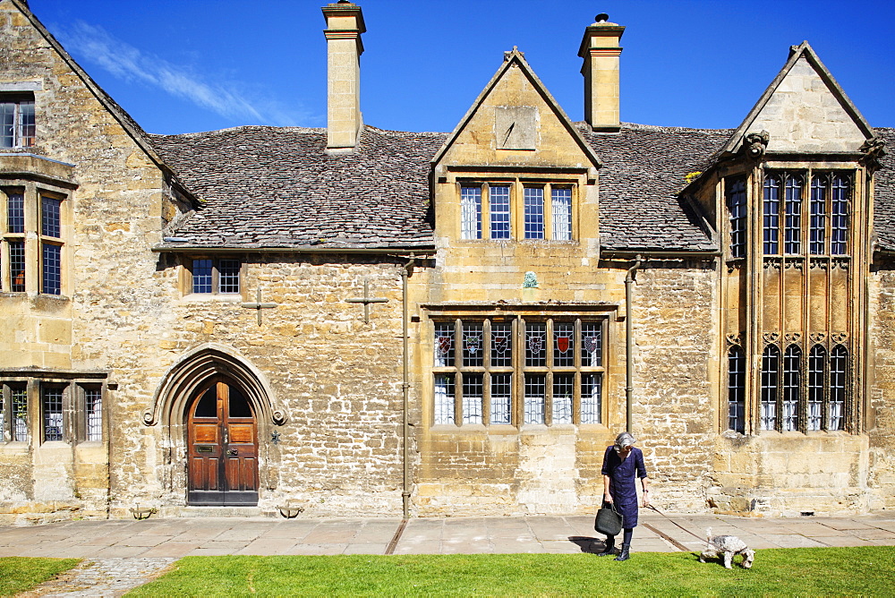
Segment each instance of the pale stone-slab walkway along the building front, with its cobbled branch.
[{"label": "pale stone-slab walkway along the building front, with its cobbled branch", "polygon": [[[895,513],[858,517],[662,517],[641,511],[634,550],[699,551],[706,528],[751,548],[895,546]],[[31,596],[119,596],[184,556],[598,552],[592,516],[271,519],[193,517],[0,527],[0,557],[84,559]]]}]

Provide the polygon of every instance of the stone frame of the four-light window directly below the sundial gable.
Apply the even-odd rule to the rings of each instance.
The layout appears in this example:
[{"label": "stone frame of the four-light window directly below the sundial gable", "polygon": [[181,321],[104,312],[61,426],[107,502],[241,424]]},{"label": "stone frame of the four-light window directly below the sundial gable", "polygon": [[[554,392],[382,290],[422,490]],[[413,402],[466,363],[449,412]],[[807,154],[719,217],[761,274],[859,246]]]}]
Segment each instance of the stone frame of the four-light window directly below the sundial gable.
[{"label": "stone frame of the four-light window directly below the sundial gable", "polygon": [[[491,187],[509,188],[509,232],[507,236],[495,235],[498,230],[497,221],[491,218]],[[529,217],[526,196],[529,190],[541,190],[541,231],[540,236],[530,235],[526,218]],[[472,192],[471,190],[477,190]],[[558,217],[559,195],[568,191],[568,207],[562,222]],[[573,242],[578,238],[578,205],[579,182],[577,179],[563,180],[524,178],[518,176],[494,176],[487,179],[479,177],[457,177],[456,197],[459,203],[459,221],[457,238],[461,241],[490,242]],[[501,214],[503,211],[501,210]],[[487,226],[486,226],[487,225]],[[501,227],[502,228],[502,227]],[[563,231],[560,233],[559,231]]]}]

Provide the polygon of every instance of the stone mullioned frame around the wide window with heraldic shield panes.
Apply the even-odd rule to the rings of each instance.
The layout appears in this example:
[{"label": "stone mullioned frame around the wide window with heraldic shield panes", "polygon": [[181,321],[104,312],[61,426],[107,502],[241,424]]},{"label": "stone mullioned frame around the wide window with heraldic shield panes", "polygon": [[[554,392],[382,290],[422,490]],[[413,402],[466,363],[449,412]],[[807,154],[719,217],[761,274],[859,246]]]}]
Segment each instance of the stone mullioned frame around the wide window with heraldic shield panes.
[{"label": "stone mullioned frame around the wide window with heraldic shield panes", "polygon": [[[502,325],[509,324],[511,327],[511,343],[513,346],[512,363],[510,365],[500,365],[494,367],[490,363],[492,345],[494,343],[491,331],[493,324]],[[525,332],[526,323],[543,323],[545,331],[545,360],[543,365],[526,365],[525,363]],[[573,338],[573,346],[570,350],[574,352],[574,364],[560,366],[555,364],[554,351],[556,347],[555,324],[556,323],[572,323],[574,326],[575,336]],[[584,365],[582,363],[581,343],[582,343],[582,324],[595,324],[599,331],[599,364]],[[481,324],[482,328],[482,364],[466,365],[463,361],[464,350],[462,342],[456,339],[463,339],[465,324]],[[454,352],[453,363],[449,365],[439,364],[438,355],[438,327],[439,325],[447,325],[448,329],[453,330],[453,340],[451,351]],[[494,314],[432,314],[430,316],[430,338],[431,356],[430,362],[430,380],[431,380],[431,398],[432,404],[430,409],[430,424],[440,427],[466,427],[470,425],[481,425],[484,427],[507,426],[522,427],[524,425],[603,425],[606,417],[606,393],[608,389],[608,346],[607,334],[609,332],[609,316],[605,313],[548,313],[534,314],[525,312]],[[510,381],[510,418],[507,423],[492,423],[491,416],[493,406],[491,405],[491,384],[492,377],[497,375],[509,375]],[[466,383],[465,376],[474,376],[482,379],[482,405],[477,409],[481,412],[481,420],[468,421],[465,415],[464,386]],[[544,378],[544,400],[543,400],[543,419],[539,422],[526,422],[525,419],[525,398],[524,384],[526,375],[542,376]],[[553,390],[557,384],[557,376],[572,376],[573,395],[572,395],[572,421],[569,423],[554,423],[553,409]],[[598,397],[596,401],[596,413],[592,419],[594,421],[582,422],[582,387],[584,376],[592,376],[592,384],[598,389]],[[452,380],[447,386],[453,389],[453,398],[448,401],[453,402],[453,413],[450,411],[450,405],[447,406],[445,414],[439,414],[439,377],[443,380]],[[467,420],[467,421],[465,421]]]}]

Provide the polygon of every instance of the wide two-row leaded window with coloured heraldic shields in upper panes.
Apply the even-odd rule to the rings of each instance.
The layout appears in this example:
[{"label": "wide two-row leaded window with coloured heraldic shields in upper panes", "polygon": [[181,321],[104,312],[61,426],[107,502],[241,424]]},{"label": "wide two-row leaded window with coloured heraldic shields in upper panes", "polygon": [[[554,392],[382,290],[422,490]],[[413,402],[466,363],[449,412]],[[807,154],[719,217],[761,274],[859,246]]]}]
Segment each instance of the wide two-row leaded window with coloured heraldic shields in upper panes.
[{"label": "wide two-row leaded window with coloured heraldic shields in upper panes", "polygon": [[602,325],[579,318],[434,321],[433,422],[600,423]]}]

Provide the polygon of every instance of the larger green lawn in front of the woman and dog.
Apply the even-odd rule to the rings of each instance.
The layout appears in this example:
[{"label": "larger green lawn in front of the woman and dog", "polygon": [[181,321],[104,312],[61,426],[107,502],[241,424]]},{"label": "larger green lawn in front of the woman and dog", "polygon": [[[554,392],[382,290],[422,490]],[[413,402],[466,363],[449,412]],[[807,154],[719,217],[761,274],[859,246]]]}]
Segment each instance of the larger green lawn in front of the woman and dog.
[{"label": "larger green lawn in front of the woman and dog", "polygon": [[[738,558],[737,558],[738,562]],[[188,557],[128,596],[895,596],[895,547],[757,551],[752,569],[693,553]]]}]

